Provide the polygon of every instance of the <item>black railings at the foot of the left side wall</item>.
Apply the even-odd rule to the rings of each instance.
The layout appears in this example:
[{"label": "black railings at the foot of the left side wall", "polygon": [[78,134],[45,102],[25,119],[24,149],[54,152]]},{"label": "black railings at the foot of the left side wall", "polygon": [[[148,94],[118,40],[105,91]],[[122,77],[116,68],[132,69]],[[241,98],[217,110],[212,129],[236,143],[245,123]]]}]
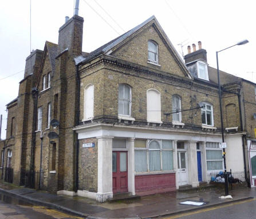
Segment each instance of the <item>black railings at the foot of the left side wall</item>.
[{"label": "black railings at the foot of the left side wall", "polygon": [[21,185],[28,188],[41,189],[44,187],[44,171],[41,171],[41,183],[40,183],[40,171],[30,171],[21,169]]}]

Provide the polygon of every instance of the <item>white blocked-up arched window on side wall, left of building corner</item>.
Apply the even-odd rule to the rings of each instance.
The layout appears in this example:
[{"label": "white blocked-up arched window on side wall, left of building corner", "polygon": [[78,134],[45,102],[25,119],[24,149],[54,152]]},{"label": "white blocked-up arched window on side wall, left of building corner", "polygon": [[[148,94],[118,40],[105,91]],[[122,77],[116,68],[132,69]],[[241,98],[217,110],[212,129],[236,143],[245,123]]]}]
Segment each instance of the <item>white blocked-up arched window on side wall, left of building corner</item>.
[{"label": "white blocked-up arched window on side wall, left of building corner", "polygon": [[89,84],[84,90],[84,120],[93,119],[94,86]]}]

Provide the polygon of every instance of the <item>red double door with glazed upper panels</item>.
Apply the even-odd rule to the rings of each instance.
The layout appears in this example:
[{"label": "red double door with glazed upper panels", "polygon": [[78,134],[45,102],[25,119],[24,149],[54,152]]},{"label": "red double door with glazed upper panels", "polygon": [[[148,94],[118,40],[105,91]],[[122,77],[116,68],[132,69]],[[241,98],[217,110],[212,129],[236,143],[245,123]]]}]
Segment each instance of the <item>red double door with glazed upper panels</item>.
[{"label": "red double door with glazed upper panels", "polygon": [[127,152],[112,153],[113,193],[128,192]]}]

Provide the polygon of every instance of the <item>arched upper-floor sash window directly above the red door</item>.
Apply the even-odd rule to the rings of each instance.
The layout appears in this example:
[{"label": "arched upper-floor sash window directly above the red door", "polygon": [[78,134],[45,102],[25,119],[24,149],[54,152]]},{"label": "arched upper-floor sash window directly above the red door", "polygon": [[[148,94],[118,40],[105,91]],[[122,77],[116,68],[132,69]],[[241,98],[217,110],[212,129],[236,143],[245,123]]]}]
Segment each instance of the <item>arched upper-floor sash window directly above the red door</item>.
[{"label": "arched upper-floor sash window directly above the red door", "polygon": [[118,114],[122,116],[131,116],[132,90],[126,84],[119,84],[118,91]]}]

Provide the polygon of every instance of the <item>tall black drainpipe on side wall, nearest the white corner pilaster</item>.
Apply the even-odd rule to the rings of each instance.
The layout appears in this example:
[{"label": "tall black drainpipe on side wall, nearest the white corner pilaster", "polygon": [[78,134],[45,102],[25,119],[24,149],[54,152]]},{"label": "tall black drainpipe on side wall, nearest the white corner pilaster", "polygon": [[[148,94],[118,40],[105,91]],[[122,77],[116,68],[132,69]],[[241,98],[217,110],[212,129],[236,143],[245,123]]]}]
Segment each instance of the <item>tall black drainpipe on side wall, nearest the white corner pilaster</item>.
[{"label": "tall black drainpipe on side wall, nearest the white corner pilaster", "polygon": [[[78,74],[78,66],[76,66],[76,80],[77,80],[77,112],[76,112],[76,125],[79,125],[79,118],[80,118],[80,76]],[[79,159],[79,140],[78,140],[78,134],[75,132],[76,135],[76,192],[78,190],[78,159]]]}]

